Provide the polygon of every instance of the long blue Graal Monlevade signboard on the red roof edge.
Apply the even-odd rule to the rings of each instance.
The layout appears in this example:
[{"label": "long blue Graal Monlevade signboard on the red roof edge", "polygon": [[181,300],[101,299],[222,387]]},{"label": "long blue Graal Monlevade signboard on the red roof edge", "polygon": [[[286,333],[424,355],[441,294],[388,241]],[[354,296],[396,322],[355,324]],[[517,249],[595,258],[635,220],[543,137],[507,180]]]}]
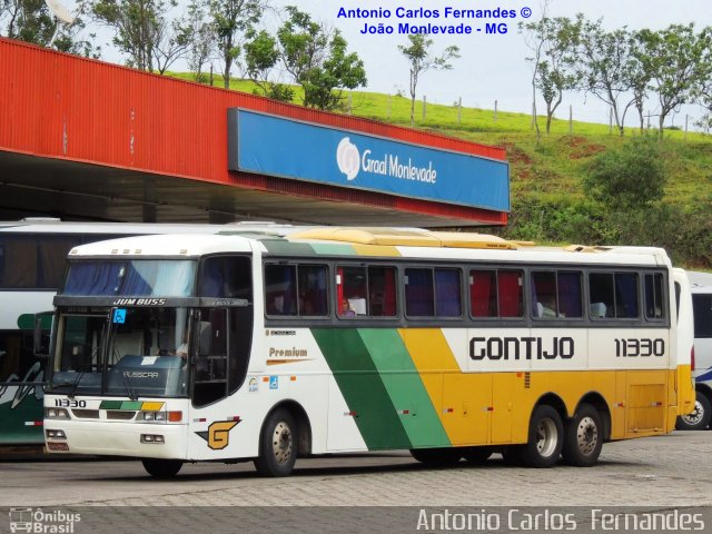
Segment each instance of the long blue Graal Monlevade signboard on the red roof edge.
[{"label": "long blue Graal Monlevade signboard on the red roof edge", "polygon": [[506,161],[228,110],[229,169],[510,210]]}]

